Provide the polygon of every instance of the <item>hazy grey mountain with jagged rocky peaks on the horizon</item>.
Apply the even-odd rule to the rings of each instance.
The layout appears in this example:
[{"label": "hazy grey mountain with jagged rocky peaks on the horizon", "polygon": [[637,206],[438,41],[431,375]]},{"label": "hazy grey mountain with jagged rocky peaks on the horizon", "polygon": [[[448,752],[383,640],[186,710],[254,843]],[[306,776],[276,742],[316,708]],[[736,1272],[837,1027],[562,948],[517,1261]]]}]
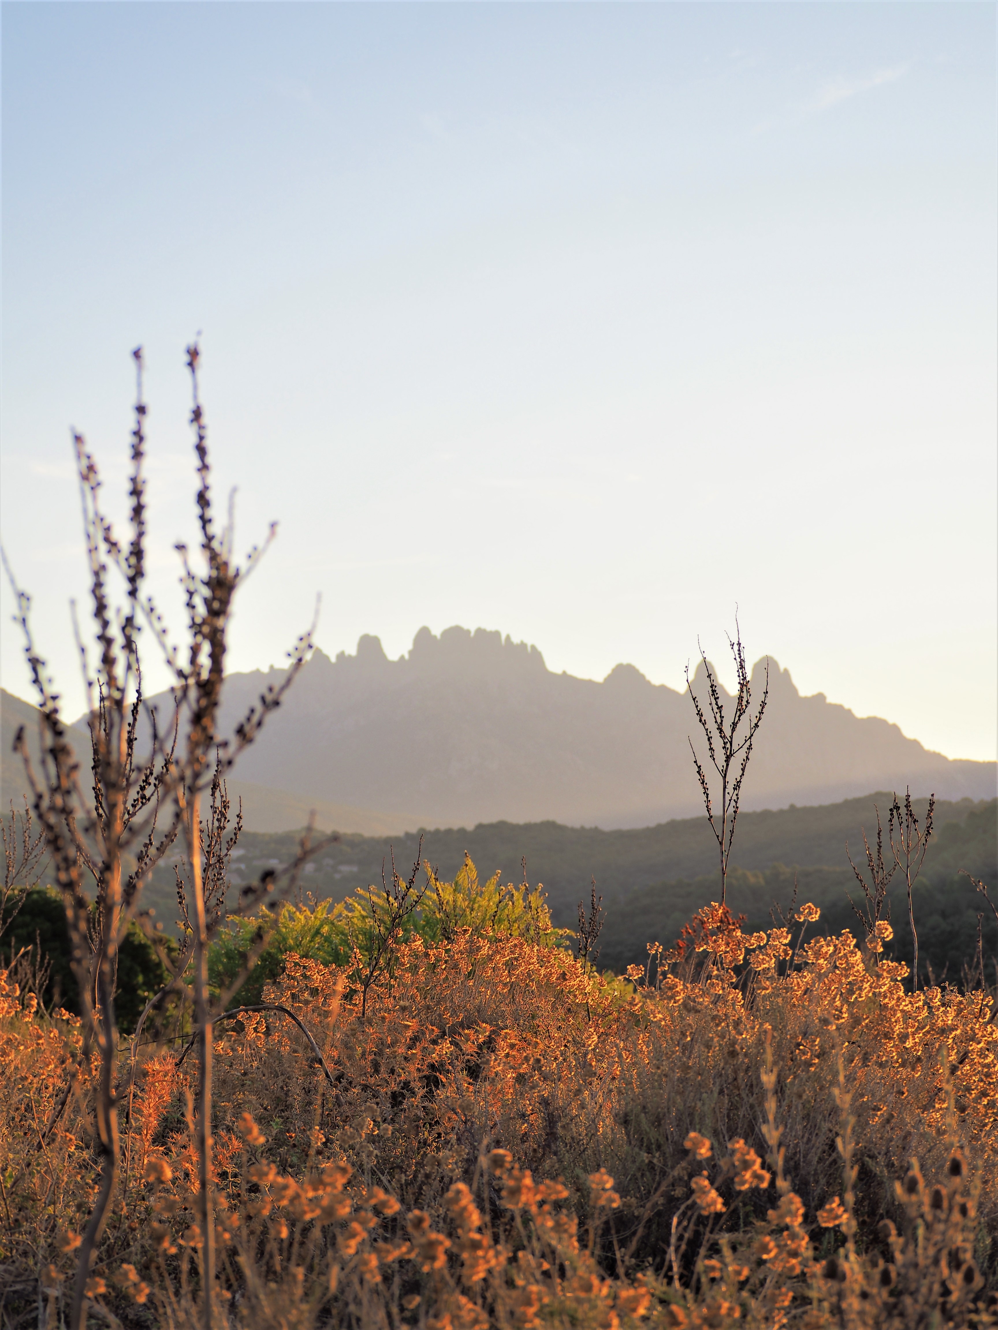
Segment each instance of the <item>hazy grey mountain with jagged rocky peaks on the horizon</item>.
[{"label": "hazy grey mountain with jagged rocky peaks on the horizon", "polygon": [[[232,674],[232,728],[282,676]],[[761,696],[764,662],[753,670]],[[703,685],[703,666],[695,686]],[[954,762],[897,725],[860,720],[824,694],[801,697],[770,660],[769,705],[743,806],[833,803],[868,790],[995,794],[994,762]],[[315,652],[237,775],[270,789],[374,809],[398,821],[474,826],[554,819],[637,827],[700,810],[687,735],[689,698],[617,665],[597,684],[554,674],[535,646],[499,633],[423,628],[390,661],[377,637],[335,661]]]}]

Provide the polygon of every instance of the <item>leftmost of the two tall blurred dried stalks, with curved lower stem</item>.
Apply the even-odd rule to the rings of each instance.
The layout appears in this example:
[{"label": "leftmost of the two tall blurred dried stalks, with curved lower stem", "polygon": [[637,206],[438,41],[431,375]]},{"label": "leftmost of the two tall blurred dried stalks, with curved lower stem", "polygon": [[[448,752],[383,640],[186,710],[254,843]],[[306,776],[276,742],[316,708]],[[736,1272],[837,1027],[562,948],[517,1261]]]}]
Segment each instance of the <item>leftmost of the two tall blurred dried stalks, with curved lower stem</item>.
[{"label": "leftmost of the two tall blurred dried stalks, with curved lower stem", "polygon": [[[92,597],[92,622],[97,665],[88,666],[81,650],[84,685],[90,714],[92,799],[83,797],[77,761],[67,737],[60,698],[29,626],[31,601],[17,587],[8,567],[17,602],[16,621],[24,633],[28,666],[39,700],[40,769],[28,757],[24,732],[16,746],[25,762],[33,811],[44,831],[63,894],[83,1016],[83,1047],[69,1073],[69,1089],[92,1051],[98,1056],[93,1096],[94,1134],[100,1156],[100,1181],[79,1249],[73,1283],[71,1325],[83,1327],[86,1317],[86,1285],[97,1244],[104,1232],[118,1181],[117,1021],[114,988],[121,939],[134,916],[142,880],[176,837],[176,825],[157,839],[160,807],[170,786],[169,761],[140,761],[136,733],[142,706],[138,632],[141,591],[145,575],[145,403],[142,356],[136,360],[136,406],[130,448],[130,539],[121,545],[100,503],[100,479],[84,439],[73,434],[84,537]],[[116,601],[109,581],[117,571],[124,596]],[[128,879],[122,858],[134,854],[136,867]],[[93,882],[93,899],[84,890],[84,875]]]}]

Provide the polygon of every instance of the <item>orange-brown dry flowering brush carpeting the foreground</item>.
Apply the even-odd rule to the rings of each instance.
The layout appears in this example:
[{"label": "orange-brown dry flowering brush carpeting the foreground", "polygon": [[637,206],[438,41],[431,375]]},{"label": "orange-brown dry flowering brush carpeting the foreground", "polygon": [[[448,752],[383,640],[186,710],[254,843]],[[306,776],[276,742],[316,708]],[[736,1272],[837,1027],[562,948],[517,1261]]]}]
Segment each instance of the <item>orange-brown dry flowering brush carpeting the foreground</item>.
[{"label": "orange-brown dry flowering brush carpeting the foreground", "polygon": [[[908,994],[877,946],[711,906],[603,983],[459,930],[399,946],[366,1016],[290,958],[265,998],[329,1077],[279,1013],[218,1027],[218,1323],[998,1325],[994,1003]],[[0,1001],[3,1315],[57,1326],[92,1084],[53,1124],[79,1028]],[[193,1068],[142,1056],[89,1318],[193,1326]]]}]

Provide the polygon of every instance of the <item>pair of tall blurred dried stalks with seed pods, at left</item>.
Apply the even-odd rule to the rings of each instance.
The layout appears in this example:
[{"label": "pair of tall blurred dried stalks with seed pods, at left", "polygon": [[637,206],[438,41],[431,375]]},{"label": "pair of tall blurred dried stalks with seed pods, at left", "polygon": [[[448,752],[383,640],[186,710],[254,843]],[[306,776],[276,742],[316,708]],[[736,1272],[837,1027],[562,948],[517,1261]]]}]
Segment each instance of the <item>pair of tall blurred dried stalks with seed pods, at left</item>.
[{"label": "pair of tall blurred dried stalks with seed pods, at left", "polygon": [[[197,459],[196,505],[201,567],[194,567],[186,547],[177,545],[182,563],[186,633],[182,650],[173,645],[162,616],[145,591],[146,499],[142,467],[146,404],[142,395],[141,347],[133,356],[137,388],[129,473],[130,532],[124,543],[114,535],[102,508],[94,458],[86,451],[83,435],[73,434],[97,661],[90,665],[88,648],[77,629],[89,704],[89,798],[81,789],[79,763],[67,737],[60,696],[35,645],[29,624],[29,597],[17,585],[8,567],[17,602],[16,621],[24,633],[31,678],[39,701],[37,771],[28,754],[23,728],[17,735],[17,749],[25,763],[33,811],[44,831],[65,903],[72,964],[81,995],[80,1053],[71,1071],[61,1108],[45,1130],[55,1125],[55,1119],[72,1095],[75,1081],[96,1049],[98,1077],[93,1104],[94,1136],[101,1160],[100,1181],[79,1244],[69,1317],[72,1330],[83,1330],[89,1271],[113,1206],[121,1164],[118,1103],[125,1097],[126,1087],[118,1084],[118,1029],[114,1015],[118,946],[133,919],[148,920],[148,912],[144,915],[140,910],[142,886],[156,864],[170,851],[177,837],[182,835],[186,870],[178,880],[189,932],[188,946],[173,967],[168,987],[182,987],[193,979],[198,1043],[196,1133],[201,1303],[202,1323],[210,1330],[214,1282],[212,1024],[217,1012],[209,999],[208,948],[213,931],[225,915],[224,868],[234,845],[232,837],[226,839],[229,809],[222,778],[240,753],[253,742],[266,717],[275,710],[290,688],[311,646],[311,633],[299,637],[289,653],[290,668],[282,682],[267,688],[232,738],[221,737],[218,710],[233,601],[273,539],[275,528],[270,528],[263,547],[250,551],[242,567],[233,561],[232,524],[220,531],[214,519],[206,426],[198,394],[198,347],[194,343],[188,347],[186,363],[193,395],[190,423]],[[7,560],[4,563],[7,565]],[[114,573],[120,575],[117,584]],[[165,726],[160,725],[156,709],[142,697],[142,625],[153,632],[162,648],[173,680],[172,714]],[[201,803],[206,793],[210,794],[212,813],[208,825],[202,826]],[[233,835],[238,835],[238,826],[237,819]],[[307,845],[286,874],[289,884],[306,855]],[[134,867],[126,871],[129,861],[134,862]],[[85,890],[86,882],[92,883],[92,895]],[[273,896],[275,886],[275,875],[265,875],[258,884],[244,890],[238,910],[245,912],[265,895]],[[277,902],[271,900],[274,903]],[[132,1065],[134,1067],[134,1060]]]}]

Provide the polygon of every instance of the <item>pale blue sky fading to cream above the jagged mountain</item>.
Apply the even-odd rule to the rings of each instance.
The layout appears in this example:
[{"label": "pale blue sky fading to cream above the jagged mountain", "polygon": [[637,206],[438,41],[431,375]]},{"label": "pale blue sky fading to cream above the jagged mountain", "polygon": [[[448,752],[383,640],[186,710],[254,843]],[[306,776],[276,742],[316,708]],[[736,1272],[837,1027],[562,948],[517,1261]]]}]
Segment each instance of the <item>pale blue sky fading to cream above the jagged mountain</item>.
[{"label": "pale blue sky fading to cream above the jagged mountain", "polygon": [[330,654],[482,625],[681,686],[700,636],[729,682],[737,605],[994,758],[995,12],[4,4],[0,517],[69,710],[69,427],[122,513],[142,343],[168,598],[200,331],[237,544],[279,521],[233,669],[321,593]]}]

